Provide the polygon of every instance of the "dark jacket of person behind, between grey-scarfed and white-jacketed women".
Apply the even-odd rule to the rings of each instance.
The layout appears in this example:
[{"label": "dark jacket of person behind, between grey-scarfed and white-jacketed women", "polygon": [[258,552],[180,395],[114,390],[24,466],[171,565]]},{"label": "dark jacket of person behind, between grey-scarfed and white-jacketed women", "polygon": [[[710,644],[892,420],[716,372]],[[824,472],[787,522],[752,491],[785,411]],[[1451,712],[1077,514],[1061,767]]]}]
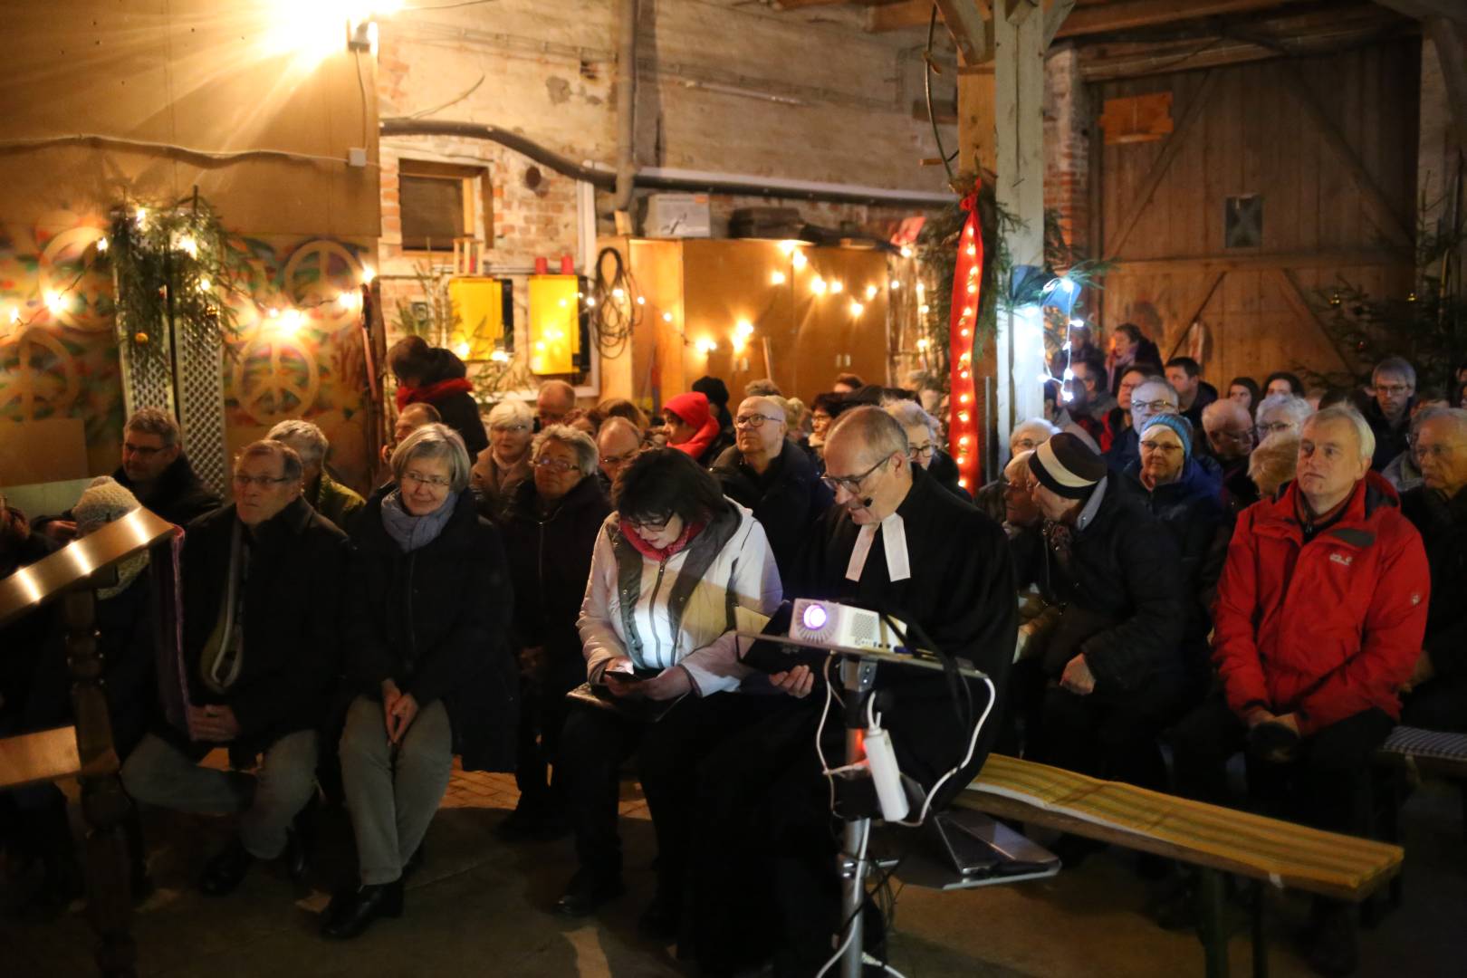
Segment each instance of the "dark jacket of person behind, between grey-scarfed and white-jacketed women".
[{"label": "dark jacket of person behind, between grey-scarfed and white-jacketed women", "polygon": [[519,484],[499,522],[515,587],[515,645],[546,651],[549,686],[585,682],[585,657],[575,622],[591,575],[596,534],[612,506],[588,475],[549,513],[540,512],[534,479]]}]

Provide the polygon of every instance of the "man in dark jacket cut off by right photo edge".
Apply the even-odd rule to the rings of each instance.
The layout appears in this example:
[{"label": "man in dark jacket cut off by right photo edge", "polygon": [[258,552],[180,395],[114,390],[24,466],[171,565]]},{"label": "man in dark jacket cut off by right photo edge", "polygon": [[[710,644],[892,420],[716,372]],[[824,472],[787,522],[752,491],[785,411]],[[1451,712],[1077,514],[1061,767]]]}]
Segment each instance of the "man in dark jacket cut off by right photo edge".
[{"label": "man in dark jacket cut off by right photo edge", "polygon": [[1413,727],[1467,732],[1467,411],[1432,411],[1411,450],[1423,485],[1401,497],[1401,512],[1426,544],[1432,601],[1401,718]]}]

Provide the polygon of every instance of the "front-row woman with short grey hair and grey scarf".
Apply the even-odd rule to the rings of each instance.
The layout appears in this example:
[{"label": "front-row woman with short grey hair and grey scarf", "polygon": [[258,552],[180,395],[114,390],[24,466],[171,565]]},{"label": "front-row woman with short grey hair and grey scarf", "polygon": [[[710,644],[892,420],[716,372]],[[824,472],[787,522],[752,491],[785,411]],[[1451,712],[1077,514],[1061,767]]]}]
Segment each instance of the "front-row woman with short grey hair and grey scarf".
[{"label": "front-row woman with short grey hair and grey scarf", "polygon": [[459,754],[465,771],[511,771],[519,680],[505,641],[512,588],[494,526],[469,490],[464,440],[428,424],[392,455],[393,484],[356,521],[345,673],[356,698],[342,783],[361,884],[326,908],[326,937],[402,915],[402,874]]}]

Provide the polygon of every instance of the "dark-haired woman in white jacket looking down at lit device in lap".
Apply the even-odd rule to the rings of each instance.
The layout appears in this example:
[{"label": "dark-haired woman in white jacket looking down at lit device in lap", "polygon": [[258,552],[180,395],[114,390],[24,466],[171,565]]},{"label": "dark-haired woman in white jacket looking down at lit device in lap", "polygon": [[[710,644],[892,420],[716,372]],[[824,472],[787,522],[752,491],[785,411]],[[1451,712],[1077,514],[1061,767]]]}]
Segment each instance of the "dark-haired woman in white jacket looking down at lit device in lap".
[{"label": "dark-haired woman in white jacket looking down at lit device in lap", "polygon": [[[588,695],[560,738],[581,868],[556,911],[593,912],[622,893],[618,774],[640,754],[657,833],[657,899],[643,928],[676,935],[694,826],[697,762],[767,704],[767,677],[738,660],[738,613],[770,616],[780,584],[764,529],[687,453],[650,449],[622,471],[581,606]],[[656,720],[656,721],[653,721]]]}]

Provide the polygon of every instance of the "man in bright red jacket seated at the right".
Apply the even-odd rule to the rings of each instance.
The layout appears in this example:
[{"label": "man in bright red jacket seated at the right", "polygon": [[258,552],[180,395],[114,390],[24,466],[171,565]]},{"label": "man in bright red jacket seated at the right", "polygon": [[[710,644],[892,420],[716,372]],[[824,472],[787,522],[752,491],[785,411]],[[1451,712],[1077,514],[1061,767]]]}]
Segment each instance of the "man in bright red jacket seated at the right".
[{"label": "man in bright red jacket seated at the right", "polygon": [[[1177,730],[1182,795],[1225,804],[1228,757],[1247,748],[1248,780],[1278,814],[1358,831],[1370,754],[1400,717],[1430,591],[1420,535],[1366,479],[1373,452],[1358,412],[1326,408],[1304,422],[1295,481],[1238,518],[1215,611],[1222,689]],[[1310,962],[1354,969],[1344,908],[1316,905]]]}]

